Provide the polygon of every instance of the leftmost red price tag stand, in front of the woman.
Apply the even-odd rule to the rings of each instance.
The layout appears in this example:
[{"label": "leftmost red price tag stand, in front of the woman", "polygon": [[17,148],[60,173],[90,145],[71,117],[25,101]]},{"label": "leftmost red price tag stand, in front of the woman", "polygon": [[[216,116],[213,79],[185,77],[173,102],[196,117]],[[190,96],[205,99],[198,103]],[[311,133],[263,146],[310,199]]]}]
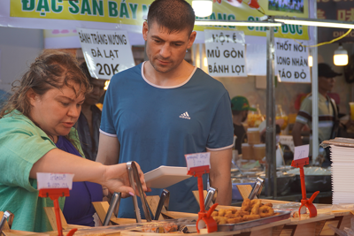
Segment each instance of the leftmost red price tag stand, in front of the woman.
[{"label": "leftmost red price tag stand, in front of the woman", "polygon": [[[58,235],[63,236],[63,227],[61,225],[60,219],[60,208],[58,198],[63,196],[69,196],[69,188],[42,188],[39,190],[40,197],[49,197],[54,203],[54,210],[57,219],[57,228],[58,228]],[[66,236],[72,236],[77,229],[72,229],[70,232],[67,233]]]}]

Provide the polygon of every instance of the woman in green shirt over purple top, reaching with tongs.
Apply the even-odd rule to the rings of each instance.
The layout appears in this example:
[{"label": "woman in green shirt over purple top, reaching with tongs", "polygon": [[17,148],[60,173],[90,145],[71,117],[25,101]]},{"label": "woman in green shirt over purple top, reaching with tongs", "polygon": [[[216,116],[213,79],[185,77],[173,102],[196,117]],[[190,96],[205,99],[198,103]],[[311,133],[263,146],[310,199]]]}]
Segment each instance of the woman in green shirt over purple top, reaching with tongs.
[{"label": "woman in green shirt over purple top, reaching with tongs", "polygon": [[[89,89],[72,55],[46,49],[0,111],[0,211],[14,213],[13,230],[51,230],[44,207],[53,202],[38,196],[38,172],[74,174],[70,196],[59,198],[69,224],[94,225],[91,202],[102,201],[101,185],[125,196],[135,194],[127,164],[108,166],[82,158],[73,126]],[[145,184],[143,188],[147,190]]]}]

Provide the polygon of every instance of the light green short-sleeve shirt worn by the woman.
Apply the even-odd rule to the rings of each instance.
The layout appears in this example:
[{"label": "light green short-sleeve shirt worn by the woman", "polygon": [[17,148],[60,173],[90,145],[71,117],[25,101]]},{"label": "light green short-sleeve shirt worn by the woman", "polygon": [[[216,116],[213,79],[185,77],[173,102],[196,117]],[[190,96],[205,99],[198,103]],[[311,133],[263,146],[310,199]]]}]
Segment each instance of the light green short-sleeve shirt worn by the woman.
[{"label": "light green short-sleeve shirt worn by the woman", "polygon": [[[29,172],[53,148],[57,147],[48,135],[18,110],[0,118],[0,210],[14,213],[14,230],[51,230],[43,207],[53,202],[38,197],[37,180],[30,179]],[[64,202],[59,198],[61,209]]]}]

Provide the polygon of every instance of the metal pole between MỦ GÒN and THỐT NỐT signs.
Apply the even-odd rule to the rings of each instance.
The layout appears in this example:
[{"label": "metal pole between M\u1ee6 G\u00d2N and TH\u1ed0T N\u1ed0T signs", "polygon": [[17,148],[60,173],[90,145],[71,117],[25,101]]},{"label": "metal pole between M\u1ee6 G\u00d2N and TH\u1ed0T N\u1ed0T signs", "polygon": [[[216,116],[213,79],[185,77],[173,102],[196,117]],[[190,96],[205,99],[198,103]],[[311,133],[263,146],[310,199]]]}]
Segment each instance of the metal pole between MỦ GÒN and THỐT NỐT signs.
[{"label": "metal pole between M\u1ee6 G\u00d2N and TH\u1ed0T N\u1ed0T signs", "polygon": [[[277,195],[275,162],[274,27],[266,31],[266,178],[267,195]],[[272,187],[273,186],[273,187]]]}]

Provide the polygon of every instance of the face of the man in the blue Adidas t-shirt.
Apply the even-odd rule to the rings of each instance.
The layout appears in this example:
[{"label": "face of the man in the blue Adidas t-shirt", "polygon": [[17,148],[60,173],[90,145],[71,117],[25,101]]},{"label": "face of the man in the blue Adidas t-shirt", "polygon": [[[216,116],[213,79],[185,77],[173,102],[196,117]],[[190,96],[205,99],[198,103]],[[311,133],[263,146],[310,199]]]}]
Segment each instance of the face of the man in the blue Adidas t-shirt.
[{"label": "face of the man in the blue Adidas t-shirt", "polygon": [[189,34],[188,29],[183,29],[169,34],[168,29],[160,28],[156,22],[150,24],[150,27],[144,22],[142,35],[146,41],[146,55],[150,64],[157,72],[163,73],[172,72],[181,65],[186,50],[196,39],[196,32]]}]

